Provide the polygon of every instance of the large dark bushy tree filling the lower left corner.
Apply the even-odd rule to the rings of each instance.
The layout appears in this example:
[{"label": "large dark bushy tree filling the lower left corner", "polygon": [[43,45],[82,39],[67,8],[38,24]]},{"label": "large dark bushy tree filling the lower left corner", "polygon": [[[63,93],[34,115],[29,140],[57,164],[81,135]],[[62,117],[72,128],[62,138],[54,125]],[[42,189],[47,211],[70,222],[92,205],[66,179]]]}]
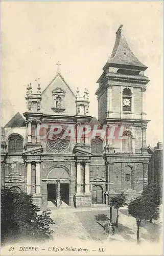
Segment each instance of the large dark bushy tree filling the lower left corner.
[{"label": "large dark bushy tree filling the lower left corner", "polygon": [[53,230],[50,225],[55,222],[50,218],[51,212],[32,203],[32,196],[24,192],[12,191],[7,187],[1,190],[1,240],[18,241],[27,238],[32,241],[45,241],[51,238]]}]

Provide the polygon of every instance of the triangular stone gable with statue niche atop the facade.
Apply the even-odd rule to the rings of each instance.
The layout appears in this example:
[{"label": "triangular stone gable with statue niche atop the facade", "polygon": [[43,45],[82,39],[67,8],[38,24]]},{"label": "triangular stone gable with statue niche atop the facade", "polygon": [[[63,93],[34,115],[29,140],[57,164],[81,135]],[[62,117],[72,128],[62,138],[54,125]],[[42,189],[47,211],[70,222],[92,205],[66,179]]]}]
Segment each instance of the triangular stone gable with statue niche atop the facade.
[{"label": "triangular stone gable with statue niche atop the facade", "polygon": [[[41,97],[41,112],[43,114],[73,116],[76,114],[76,96],[60,74],[57,74],[44,89]],[[56,106],[57,97],[61,99],[59,109]]]}]

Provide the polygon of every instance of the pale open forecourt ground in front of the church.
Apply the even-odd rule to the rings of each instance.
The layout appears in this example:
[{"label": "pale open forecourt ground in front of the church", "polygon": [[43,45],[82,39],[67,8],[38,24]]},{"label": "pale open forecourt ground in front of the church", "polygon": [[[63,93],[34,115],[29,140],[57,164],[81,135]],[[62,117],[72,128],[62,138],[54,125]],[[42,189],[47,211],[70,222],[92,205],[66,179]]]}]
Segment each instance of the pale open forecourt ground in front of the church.
[{"label": "pale open forecourt ground in front of the church", "polygon": [[[107,205],[95,205],[92,208],[55,208],[50,207],[51,218],[55,221],[52,229],[54,239],[80,239],[94,241],[136,241],[136,220],[128,215],[127,207],[119,210],[119,227],[115,228],[113,236],[109,236],[95,219],[96,215],[109,217]],[[116,214],[113,210],[113,222]],[[162,233],[162,216],[157,221],[149,223],[142,221],[140,240],[157,242]]]}]

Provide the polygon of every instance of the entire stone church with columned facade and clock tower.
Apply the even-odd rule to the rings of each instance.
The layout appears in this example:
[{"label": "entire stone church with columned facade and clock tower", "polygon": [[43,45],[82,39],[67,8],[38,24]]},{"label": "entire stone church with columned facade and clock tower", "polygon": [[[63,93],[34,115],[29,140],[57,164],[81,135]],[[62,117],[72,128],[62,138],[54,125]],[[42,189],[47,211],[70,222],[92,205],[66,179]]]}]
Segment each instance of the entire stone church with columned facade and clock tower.
[{"label": "entire stone church with columned facade and clock tower", "polygon": [[[97,81],[98,119],[88,115],[87,89],[84,96],[79,89],[75,94],[59,68],[42,92],[38,83],[33,93],[30,83],[27,111],[2,127],[2,185],[32,194],[39,207],[49,201],[56,207],[108,204],[121,191],[128,200],[139,196],[148,182],[150,157],[146,69],[129,48],[121,25]],[[93,136],[79,133],[87,126]],[[108,136],[112,127],[124,127],[122,138]]]}]

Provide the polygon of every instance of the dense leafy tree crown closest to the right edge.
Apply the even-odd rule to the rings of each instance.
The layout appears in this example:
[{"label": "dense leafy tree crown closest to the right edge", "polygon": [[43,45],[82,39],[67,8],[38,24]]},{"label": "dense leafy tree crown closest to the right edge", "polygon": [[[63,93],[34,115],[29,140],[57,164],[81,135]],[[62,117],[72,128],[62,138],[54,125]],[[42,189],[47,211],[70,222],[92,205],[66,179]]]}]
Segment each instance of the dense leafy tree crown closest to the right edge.
[{"label": "dense leafy tree crown closest to the right edge", "polygon": [[146,220],[156,220],[159,217],[159,205],[161,203],[161,191],[160,186],[157,183],[150,183],[147,185],[143,192],[142,197],[145,207]]}]

